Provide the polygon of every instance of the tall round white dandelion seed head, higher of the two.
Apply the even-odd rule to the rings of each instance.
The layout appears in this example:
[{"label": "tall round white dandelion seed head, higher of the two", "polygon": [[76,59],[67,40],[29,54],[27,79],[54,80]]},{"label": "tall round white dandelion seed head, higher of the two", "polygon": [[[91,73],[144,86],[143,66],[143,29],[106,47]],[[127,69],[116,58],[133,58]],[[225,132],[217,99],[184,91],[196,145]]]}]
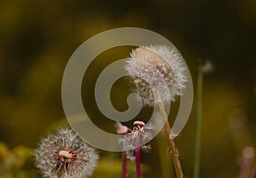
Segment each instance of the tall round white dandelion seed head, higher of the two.
[{"label": "tall round white dandelion seed head, higher of the two", "polygon": [[164,103],[175,100],[185,89],[186,67],[175,48],[139,47],[126,60],[125,70],[136,85],[144,106],[154,106],[154,92],[159,91]]}]

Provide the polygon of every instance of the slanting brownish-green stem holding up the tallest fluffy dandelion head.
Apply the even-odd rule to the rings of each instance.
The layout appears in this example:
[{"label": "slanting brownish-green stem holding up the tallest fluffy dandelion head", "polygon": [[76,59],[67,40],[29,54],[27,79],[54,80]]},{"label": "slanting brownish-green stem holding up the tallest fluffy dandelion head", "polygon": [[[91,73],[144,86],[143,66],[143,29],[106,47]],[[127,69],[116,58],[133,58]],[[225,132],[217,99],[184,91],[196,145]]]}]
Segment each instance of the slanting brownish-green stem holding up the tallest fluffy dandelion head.
[{"label": "slanting brownish-green stem holding up the tallest fluffy dandelion head", "polygon": [[176,147],[176,144],[175,144],[175,142],[173,140],[173,137],[172,137],[172,129],[171,129],[171,126],[168,122],[168,118],[166,116],[165,106],[162,102],[159,91],[156,90],[155,95],[157,97],[158,106],[160,107],[160,114],[161,114],[161,116],[163,117],[163,119],[165,121],[166,134],[168,136],[168,140],[169,140],[169,143],[170,143],[170,146],[171,146],[172,161],[173,161],[173,164],[174,164],[174,168],[175,168],[177,178],[183,178],[183,170],[182,170],[182,167],[181,167],[181,164],[180,164],[180,160],[178,158],[177,147]]}]

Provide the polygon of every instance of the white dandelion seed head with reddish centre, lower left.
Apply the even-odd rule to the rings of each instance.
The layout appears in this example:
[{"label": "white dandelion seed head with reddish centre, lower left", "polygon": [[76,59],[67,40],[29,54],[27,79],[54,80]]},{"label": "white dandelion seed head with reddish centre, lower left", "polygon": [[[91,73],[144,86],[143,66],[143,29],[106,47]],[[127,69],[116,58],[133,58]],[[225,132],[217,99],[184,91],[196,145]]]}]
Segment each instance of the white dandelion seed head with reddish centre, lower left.
[{"label": "white dandelion seed head with reddish centre, lower left", "polygon": [[84,178],[96,169],[99,156],[73,129],[62,128],[41,141],[35,158],[44,177]]}]

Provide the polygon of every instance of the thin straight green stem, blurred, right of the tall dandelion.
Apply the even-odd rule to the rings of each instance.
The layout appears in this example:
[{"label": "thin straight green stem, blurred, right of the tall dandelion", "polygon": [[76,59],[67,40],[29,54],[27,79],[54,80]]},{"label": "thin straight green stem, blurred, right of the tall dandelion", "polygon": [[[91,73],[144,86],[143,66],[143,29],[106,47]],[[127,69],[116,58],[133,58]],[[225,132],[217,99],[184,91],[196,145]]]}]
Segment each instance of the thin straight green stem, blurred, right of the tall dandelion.
[{"label": "thin straight green stem, blurred, right of the tall dandelion", "polygon": [[198,77],[197,77],[194,178],[200,177],[202,88],[203,88],[203,71],[201,70],[201,66],[200,66],[198,71]]}]

